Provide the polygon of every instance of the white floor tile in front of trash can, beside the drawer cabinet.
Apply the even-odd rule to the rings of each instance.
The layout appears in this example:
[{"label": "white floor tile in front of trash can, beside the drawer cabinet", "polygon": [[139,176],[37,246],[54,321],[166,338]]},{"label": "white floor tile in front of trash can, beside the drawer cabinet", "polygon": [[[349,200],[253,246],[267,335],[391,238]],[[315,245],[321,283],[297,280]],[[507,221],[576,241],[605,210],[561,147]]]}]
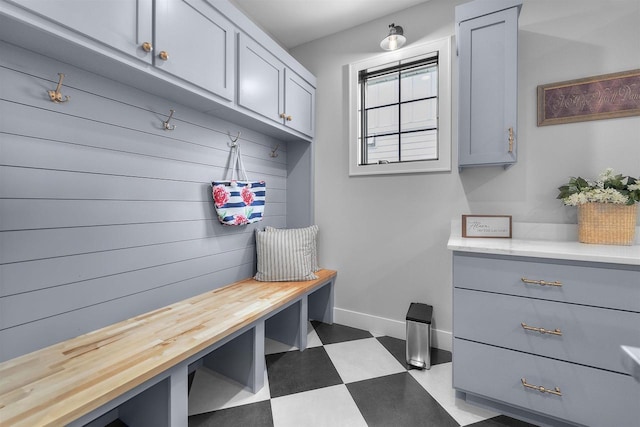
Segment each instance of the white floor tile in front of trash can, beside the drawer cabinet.
[{"label": "white floor tile in front of trash can, beside the drawer cabinet", "polygon": [[455,397],[451,367],[451,363],[442,363],[431,366],[431,369],[411,369],[409,374],[412,375],[461,426],[498,416],[499,414],[470,405]]}]

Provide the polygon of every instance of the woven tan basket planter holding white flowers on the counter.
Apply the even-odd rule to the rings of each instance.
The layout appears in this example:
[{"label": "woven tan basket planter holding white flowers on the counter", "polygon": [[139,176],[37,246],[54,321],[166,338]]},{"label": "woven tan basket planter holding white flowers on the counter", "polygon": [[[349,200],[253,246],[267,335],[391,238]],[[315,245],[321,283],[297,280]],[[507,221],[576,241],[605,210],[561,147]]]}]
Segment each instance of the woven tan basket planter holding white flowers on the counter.
[{"label": "woven tan basket planter holding white flowers on the counter", "polygon": [[637,217],[637,203],[585,203],[578,206],[578,240],[600,245],[633,245]]}]

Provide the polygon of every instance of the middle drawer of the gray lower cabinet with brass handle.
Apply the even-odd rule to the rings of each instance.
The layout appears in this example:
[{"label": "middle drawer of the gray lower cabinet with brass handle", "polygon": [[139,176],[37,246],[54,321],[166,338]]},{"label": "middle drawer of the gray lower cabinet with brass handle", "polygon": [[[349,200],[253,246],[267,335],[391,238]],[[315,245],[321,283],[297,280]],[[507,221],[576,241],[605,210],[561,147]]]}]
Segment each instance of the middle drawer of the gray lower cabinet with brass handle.
[{"label": "middle drawer of the gray lower cabinet with brass handle", "polygon": [[457,338],[622,373],[620,346],[640,347],[640,313],[467,289],[454,290],[454,304]]}]

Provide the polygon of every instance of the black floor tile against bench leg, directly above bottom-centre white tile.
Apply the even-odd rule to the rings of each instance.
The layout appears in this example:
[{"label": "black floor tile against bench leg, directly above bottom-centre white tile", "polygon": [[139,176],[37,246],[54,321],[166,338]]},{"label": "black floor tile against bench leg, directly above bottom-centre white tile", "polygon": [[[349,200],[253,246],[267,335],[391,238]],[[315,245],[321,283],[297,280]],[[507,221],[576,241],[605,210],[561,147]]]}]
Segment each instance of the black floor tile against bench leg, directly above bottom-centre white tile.
[{"label": "black floor tile against bench leg, directly above bottom-centre white tile", "polygon": [[342,384],[324,347],[266,356],[271,397]]}]

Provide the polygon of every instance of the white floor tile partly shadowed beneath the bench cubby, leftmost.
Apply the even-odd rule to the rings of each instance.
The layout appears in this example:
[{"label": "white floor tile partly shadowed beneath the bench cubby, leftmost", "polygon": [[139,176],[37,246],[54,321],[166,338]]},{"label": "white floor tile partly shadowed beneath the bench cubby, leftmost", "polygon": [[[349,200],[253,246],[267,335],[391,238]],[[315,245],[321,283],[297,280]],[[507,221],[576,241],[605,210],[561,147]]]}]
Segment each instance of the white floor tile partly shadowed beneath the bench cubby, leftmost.
[{"label": "white floor tile partly shadowed beneath the bench cubby, leftmost", "polygon": [[247,403],[261,402],[271,397],[269,378],[264,371],[264,387],[256,394],[248,388],[207,368],[199,368],[189,393],[189,415],[203,414],[218,409]]}]

